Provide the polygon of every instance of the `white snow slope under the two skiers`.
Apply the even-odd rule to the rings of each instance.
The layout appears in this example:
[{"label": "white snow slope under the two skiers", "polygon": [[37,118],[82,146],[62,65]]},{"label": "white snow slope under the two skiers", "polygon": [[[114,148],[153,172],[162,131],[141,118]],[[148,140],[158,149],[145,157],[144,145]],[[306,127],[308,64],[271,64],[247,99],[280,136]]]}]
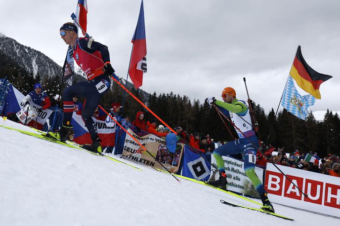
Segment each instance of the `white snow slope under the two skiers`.
[{"label": "white snow slope under the two skiers", "polygon": [[[29,128],[9,120],[0,124]],[[336,225],[339,219],[275,205],[290,222],[229,207],[227,193],[0,127],[1,226]],[[117,157],[117,156],[116,156]],[[129,161],[128,161],[129,162]],[[131,163],[131,162],[129,162]],[[134,163],[131,163],[134,164]],[[256,206],[254,206],[256,207]]]}]

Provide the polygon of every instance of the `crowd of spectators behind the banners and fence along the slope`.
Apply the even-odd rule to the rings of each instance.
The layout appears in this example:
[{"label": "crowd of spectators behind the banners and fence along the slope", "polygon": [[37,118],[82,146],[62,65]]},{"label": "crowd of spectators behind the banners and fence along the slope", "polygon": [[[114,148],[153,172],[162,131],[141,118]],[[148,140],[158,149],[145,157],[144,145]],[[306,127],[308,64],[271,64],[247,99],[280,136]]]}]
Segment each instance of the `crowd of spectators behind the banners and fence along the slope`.
[{"label": "crowd of spectators behind the banners and fence along the slope", "polygon": [[[36,109],[38,113],[41,113],[43,110],[47,108],[53,108],[53,106],[58,106],[62,108],[62,105],[59,104],[61,101],[61,96],[56,95],[51,100],[48,95],[42,89],[42,85],[37,83],[34,85],[34,90],[29,92],[27,96],[22,100],[22,104],[24,106],[33,102],[34,104],[41,106],[41,108]],[[74,102],[74,112],[77,114],[82,113],[83,103],[79,101],[79,97],[73,97]],[[98,120],[103,120],[106,123],[112,123],[111,126],[115,126],[115,121],[112,120],[114,118],[118,122],[120,122],[125,129],[131,128],[133,132],[137,135],[143,136],[147,133],[154,134],[165,139],[166,135],[170,133],[170,129],[164,127],[163,125],[157,125],[157,120],[154,118],[147,119],[146,114],[142,111],[136,113],[134,120],[131,122],[131,117],[129,115],[121,115],[121,108],[119,103],[112,103],[111,109],[109,109],[110,113],[107,115],[101,109],[97,108],[94,112],[93,117]],[[54,109],[53,109],[54,110]],[[45,123],[46,124],[46,123]],[[37,129],[42,129],[42,125],[37,123],[27,123],[28,126],[36,127]],[[118,130],[121,128],[118,128]],[[215,142],[210,137],[209,134],[201,136],[200,133],[194,132],[188,134],[187,131],[183,130],[181,126],[174,127],[174,130],[177,133],[177,140],[182,143],[190,144],[191,147],[206,153],[211,154],[215,150]],[[71,130],[68,133],[68,140],[72,141],[74,138],[74,131]],[[225,144],[223,141],[217,142],[217,147]],[[329,154],[328,156],[319,157],[317,152],[310,151],[309,153],[300,153],[298,150],[290,151],[292,153],[287,152],[283,147],[278,148],[277,151],[271,144],[265,145],[262,141],[260,143],[260,149],[262,150],[260,153],[257,151],[256,156],[256,165],[264,167],[267,162],[275,163],[277,165],[293,167],[301,170],[307,170],[315,173],[322,173],[325,175],[340,177],[340,160],[339,156],[336,154]],[[113,147],[107,147],[106,152],[112,152]],[[275,152],[274,152],[275,151]],[[277,153],[277,154],[273,154]],[[306,155],[312,156],[312,161],[306,161]],[[158,152],[158,160],[163,163],[169,163],[172,165],[177,165],[179,162],[178,153],[169,154],[164,150],[159,150]],[[236,158],[242,159],[241,155],[234,156]],[[309,158],[310,159],[310,158]]]}]

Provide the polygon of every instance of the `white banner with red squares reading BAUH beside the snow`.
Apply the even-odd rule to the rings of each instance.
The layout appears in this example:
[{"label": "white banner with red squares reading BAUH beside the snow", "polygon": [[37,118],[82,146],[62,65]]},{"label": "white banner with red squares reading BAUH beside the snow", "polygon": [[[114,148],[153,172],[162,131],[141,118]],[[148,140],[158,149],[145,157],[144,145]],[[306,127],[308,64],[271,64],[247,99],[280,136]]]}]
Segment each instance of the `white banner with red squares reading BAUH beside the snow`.
[{"label": "white banner with red squares reading BAUH beside the snow", "polygon": [[340,178],[277,165],[295,187],[271,163],[267,163],[265,189],[271,202],[340,217]]}]

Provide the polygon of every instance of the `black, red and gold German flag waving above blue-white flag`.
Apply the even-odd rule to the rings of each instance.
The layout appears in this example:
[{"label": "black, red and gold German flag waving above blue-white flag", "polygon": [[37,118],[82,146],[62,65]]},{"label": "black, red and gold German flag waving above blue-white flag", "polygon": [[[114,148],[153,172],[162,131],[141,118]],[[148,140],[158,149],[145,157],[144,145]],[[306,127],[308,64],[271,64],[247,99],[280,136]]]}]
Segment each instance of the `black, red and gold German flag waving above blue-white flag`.
[{"label": "black, red and gold German flag waving above blue-white flag", "polygon": [[316,99],[321,99],[319,91],[321,83],[332,77],[331,75],[320,74],[309,67],[302,57],[301,46],[298,46],[297,55],[289,74],[297,81],[298,86]]}]

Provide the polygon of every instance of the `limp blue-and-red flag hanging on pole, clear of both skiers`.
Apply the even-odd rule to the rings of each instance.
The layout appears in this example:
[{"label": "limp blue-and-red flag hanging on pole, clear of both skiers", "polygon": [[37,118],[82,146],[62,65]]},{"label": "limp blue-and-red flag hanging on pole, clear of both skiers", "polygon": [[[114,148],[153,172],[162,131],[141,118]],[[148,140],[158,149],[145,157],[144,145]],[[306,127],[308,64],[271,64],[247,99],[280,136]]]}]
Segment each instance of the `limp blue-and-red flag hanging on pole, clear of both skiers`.
[{"label": "limp blue-and-red flag hanging on pole, clear of both skiers", "polygon": [[134,87],[138,89],[140,86],[142,86],[143,83],[143,73],[146,73],[147,71],[143,0],[140,4],[138,22],[131,42],[133,43],[133,45],[128,73]]}]

